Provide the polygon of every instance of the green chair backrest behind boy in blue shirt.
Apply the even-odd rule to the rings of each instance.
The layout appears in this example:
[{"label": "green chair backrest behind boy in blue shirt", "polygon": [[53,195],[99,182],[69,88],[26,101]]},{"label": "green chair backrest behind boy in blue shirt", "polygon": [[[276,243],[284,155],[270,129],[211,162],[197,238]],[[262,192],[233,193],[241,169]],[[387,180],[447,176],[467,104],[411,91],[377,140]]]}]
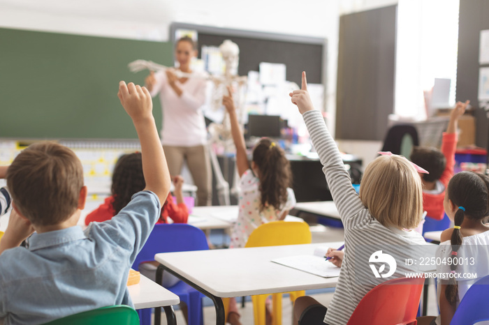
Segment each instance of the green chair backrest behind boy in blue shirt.
[{"label": "green chair backrest behind boy in blue shirt", "polygon": [[55,319],[45,325],[139,325],[138,312],[126,305],[114,305],[109,307],[79,312],[78,314]]}]

